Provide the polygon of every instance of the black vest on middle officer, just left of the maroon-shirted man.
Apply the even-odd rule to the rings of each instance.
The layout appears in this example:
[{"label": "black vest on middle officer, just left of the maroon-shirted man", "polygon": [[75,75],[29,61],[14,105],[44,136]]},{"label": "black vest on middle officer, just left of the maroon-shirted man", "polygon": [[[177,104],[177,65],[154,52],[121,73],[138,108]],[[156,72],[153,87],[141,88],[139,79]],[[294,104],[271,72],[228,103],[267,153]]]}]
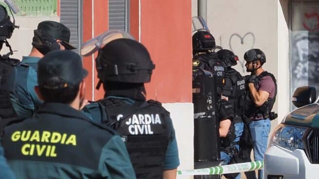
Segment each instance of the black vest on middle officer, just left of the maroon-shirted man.
[{"label": "black vest on middle officer, just left of the maroon-shirted man", "polygon": [[235,115],[241,116],[249,107],[246,94],[246,83],[244,77],[236,70],[229,68],[225,73],[225,80],[229,79],[231,85],[223,86],[223,95],[229,97],[229,102],[234,108]]}]

